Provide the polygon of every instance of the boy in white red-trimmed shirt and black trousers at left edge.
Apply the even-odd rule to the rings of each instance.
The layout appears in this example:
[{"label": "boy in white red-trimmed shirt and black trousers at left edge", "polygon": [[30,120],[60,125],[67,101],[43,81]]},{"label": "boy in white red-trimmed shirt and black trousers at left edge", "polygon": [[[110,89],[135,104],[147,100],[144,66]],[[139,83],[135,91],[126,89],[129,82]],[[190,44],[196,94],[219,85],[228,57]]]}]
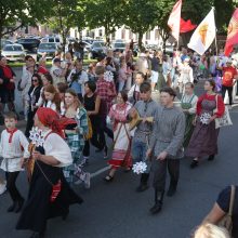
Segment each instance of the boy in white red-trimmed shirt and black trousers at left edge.
[{"label": "boy in white red-trimmed shirt and black trousers at left edge", "polygon": [[16,129],[17,118],[14,113],[4,116],[5,130],[0,141],[0,156],[3,158],[1,169],[5,171],[6,189],[13,200],[8,212],[19,212],[24,198],[16,187],[16,178],[22,171],[23,159],[29,158],[28,141],[24,133]]}]

